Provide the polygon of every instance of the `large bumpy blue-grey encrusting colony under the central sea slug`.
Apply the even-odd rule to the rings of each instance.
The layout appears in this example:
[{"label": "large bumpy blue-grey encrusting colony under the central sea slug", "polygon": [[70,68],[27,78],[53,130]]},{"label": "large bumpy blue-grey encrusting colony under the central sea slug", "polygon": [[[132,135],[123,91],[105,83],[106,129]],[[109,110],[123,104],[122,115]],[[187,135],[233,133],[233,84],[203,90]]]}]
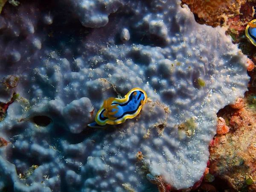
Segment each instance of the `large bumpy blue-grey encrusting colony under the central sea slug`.
[{"label": "large bumpy blue-grey encrusting colony under the central sea slug", "polygon": [[201,179],[217,122],[228,129],[216,112],[247,90],[247,57],[180,3],[6,3],[1,191],[164,192]]}]

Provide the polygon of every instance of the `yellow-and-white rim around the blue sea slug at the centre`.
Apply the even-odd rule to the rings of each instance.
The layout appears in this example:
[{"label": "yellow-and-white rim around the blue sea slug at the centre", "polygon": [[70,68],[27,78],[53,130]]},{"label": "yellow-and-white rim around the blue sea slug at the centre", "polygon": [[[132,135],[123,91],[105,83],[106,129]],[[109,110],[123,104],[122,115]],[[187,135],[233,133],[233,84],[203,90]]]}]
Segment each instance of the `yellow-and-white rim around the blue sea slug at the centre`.
[{"label": "yellow-and-white rim around the blue sea slug at the centre", "polygon": [[[131,95],[132,93],[134,93],[134,91],[141,91],[141,92],[143,92],[144,97],[145,97],[145,99],[143,100],[143,102],[141,103],[141,105],[139,106],[139,108],[137,109],[136,113],[133,113],[133,114],[131,114],[131,115],[130,115],[130,114],[129,114],[129,115],[125,115],[125,116],[123,116],[121,119],[118,119],[118,120],[115,120],[115,119],[112,119],[112,120],[111,120],[111,119],[106,119],[105,121],[102,122],[101,120],[98,119],[100,113],[102,113],[102,111],[105,109],[105,108],[104,108],[104,105],[102,105],[102,107],[99,109],[98,113],[96,114],[96,117],[95,117],[96,123],[97,123],[98,125],[106,125],[106,124],[109,124],[109,125],[117,125],[117,124],[120,124],[120,123],[125,122],[126,119],[133,119],[134,117],[136,117],[136,116],[140,113],[140,111],[141,111],[143,105],[145,104],[145,102],[147,101],[147,94],[145,93],[144,90],[142,90],[142,89],[140,89],[140,88],[133,88],[133,89],[130,90],[130,91],[125,95],[125,97],[122,98],[122,99],[113,98],[113,97],[112,97],[112,98],[109,98],[109,99],[106,99],[106,100],[104,101],[104,104],[107,103],[108,100],[110,100],[111,103],[114,102],[114,103],[118,103],[118,104],[125,104],[126,102],[129,101],[130,95]],[[137,92],[135,92],[135,93],[137,93]]]}]

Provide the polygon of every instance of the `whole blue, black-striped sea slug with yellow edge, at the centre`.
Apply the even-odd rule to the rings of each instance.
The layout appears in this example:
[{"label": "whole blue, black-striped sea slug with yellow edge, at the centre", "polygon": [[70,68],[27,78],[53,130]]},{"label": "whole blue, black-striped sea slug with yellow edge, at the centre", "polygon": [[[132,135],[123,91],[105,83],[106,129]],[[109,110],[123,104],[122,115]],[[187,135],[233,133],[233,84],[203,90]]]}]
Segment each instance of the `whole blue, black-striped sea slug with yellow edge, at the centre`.
[{"label": "whole blue, black-striped sea slug with yellow edge, at the centre", "polygon": [[130,90],[122,99],[110,97],[104,101],[96,114],[96,122],[90,123],[88,126],[99,128],[105,127],[106,124],[117,125],[123,123],[126,119],[136,117],[146,101],[147,94],[140,88]]}]

